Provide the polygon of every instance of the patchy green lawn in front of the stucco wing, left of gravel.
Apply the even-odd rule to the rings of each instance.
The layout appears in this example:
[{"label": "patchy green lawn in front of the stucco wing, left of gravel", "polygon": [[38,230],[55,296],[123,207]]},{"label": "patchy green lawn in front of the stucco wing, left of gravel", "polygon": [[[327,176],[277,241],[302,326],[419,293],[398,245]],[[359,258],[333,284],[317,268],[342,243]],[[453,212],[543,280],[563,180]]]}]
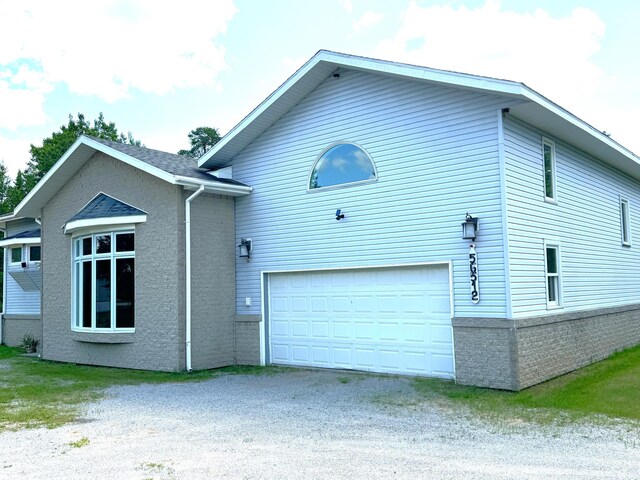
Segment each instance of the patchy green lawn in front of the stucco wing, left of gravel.
[{"label": "patchy green lawn in front of the stucco wing, left of gravel", "polygon": [[78,417],[81,404],[103,396],[112,385],[193,382],[222,374],[272,374],[270,367],[229,367],[192,373],[162,373],[91,367],[20,355],[21,348],[0,346],[0,432],[54,428]]}]

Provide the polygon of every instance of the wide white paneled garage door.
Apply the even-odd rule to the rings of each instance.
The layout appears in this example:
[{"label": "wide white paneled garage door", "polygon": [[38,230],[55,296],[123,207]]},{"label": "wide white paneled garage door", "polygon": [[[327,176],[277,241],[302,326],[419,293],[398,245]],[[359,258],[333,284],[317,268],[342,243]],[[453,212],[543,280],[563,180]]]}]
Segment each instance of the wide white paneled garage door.
[{"label": "wide white paneled garage door", "polygon": [[271,363],[453,377],[447,266],[269,275]]}]

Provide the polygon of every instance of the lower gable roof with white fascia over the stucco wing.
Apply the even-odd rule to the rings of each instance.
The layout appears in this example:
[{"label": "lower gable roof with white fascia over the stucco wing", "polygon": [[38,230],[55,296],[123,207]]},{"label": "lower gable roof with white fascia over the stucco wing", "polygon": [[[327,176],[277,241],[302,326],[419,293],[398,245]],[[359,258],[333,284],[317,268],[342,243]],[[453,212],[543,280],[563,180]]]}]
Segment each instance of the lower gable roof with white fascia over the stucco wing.
[{"label": "lower gable roof with white fascia over the stucco wing", "polygon": [[196,160],[181,155],[136,147],[81,135],[29,194],[18,204],[14,216],[39,217],[40,210],[97,152],[120,160],[172,185],[221,195],[248,195],[251,187],[235,180],[218,178],[198,168]]}]

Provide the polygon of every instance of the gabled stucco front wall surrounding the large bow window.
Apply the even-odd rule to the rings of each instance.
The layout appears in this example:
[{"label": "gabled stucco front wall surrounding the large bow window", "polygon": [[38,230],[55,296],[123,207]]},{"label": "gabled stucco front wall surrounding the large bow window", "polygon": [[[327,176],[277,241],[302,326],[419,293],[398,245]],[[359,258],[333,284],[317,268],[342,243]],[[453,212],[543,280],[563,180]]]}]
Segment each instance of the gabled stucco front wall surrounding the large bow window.
[{"label": "gabled stucco front wall surrounding the large bow window", "polygon": [[[135,229],[133,334],[71,331],[71,236],[61,226],[99,192],[148,213],[147,222]],[[185,368],[183,212],[181,189],[101,153],[51,199],[42,214],[44,358],[166,371]]]}]

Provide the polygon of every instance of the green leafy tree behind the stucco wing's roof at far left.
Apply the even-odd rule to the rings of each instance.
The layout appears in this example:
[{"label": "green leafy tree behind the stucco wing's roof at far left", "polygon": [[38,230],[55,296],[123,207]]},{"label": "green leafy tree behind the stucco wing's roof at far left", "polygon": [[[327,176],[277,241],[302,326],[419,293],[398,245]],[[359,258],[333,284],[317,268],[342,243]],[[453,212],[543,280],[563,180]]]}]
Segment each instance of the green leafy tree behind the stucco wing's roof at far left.
[{"label": "green leafy tree behind the stucco wing's roof at far left", "polygon": [[[62,125],[59,132],[53,132],[50,137],[45,138],[41,147],[31,145],[29,149],[31,158],[27,163],[27,168],[24,171],[18,171],[16,180],[9,187],[6,199],[2,203],[2,209],[12,211],[82,134],[142,146],[140,140],[134,139],[131,132],[127,132],[127,135],[118,133],[116,124],[105,121],[102,112],[93,121],[93,125],[85,120],[82,113],[78,113],[77,120],[69,114],[69,123]],[[1,176],[0,173],[0,181]]]}]

